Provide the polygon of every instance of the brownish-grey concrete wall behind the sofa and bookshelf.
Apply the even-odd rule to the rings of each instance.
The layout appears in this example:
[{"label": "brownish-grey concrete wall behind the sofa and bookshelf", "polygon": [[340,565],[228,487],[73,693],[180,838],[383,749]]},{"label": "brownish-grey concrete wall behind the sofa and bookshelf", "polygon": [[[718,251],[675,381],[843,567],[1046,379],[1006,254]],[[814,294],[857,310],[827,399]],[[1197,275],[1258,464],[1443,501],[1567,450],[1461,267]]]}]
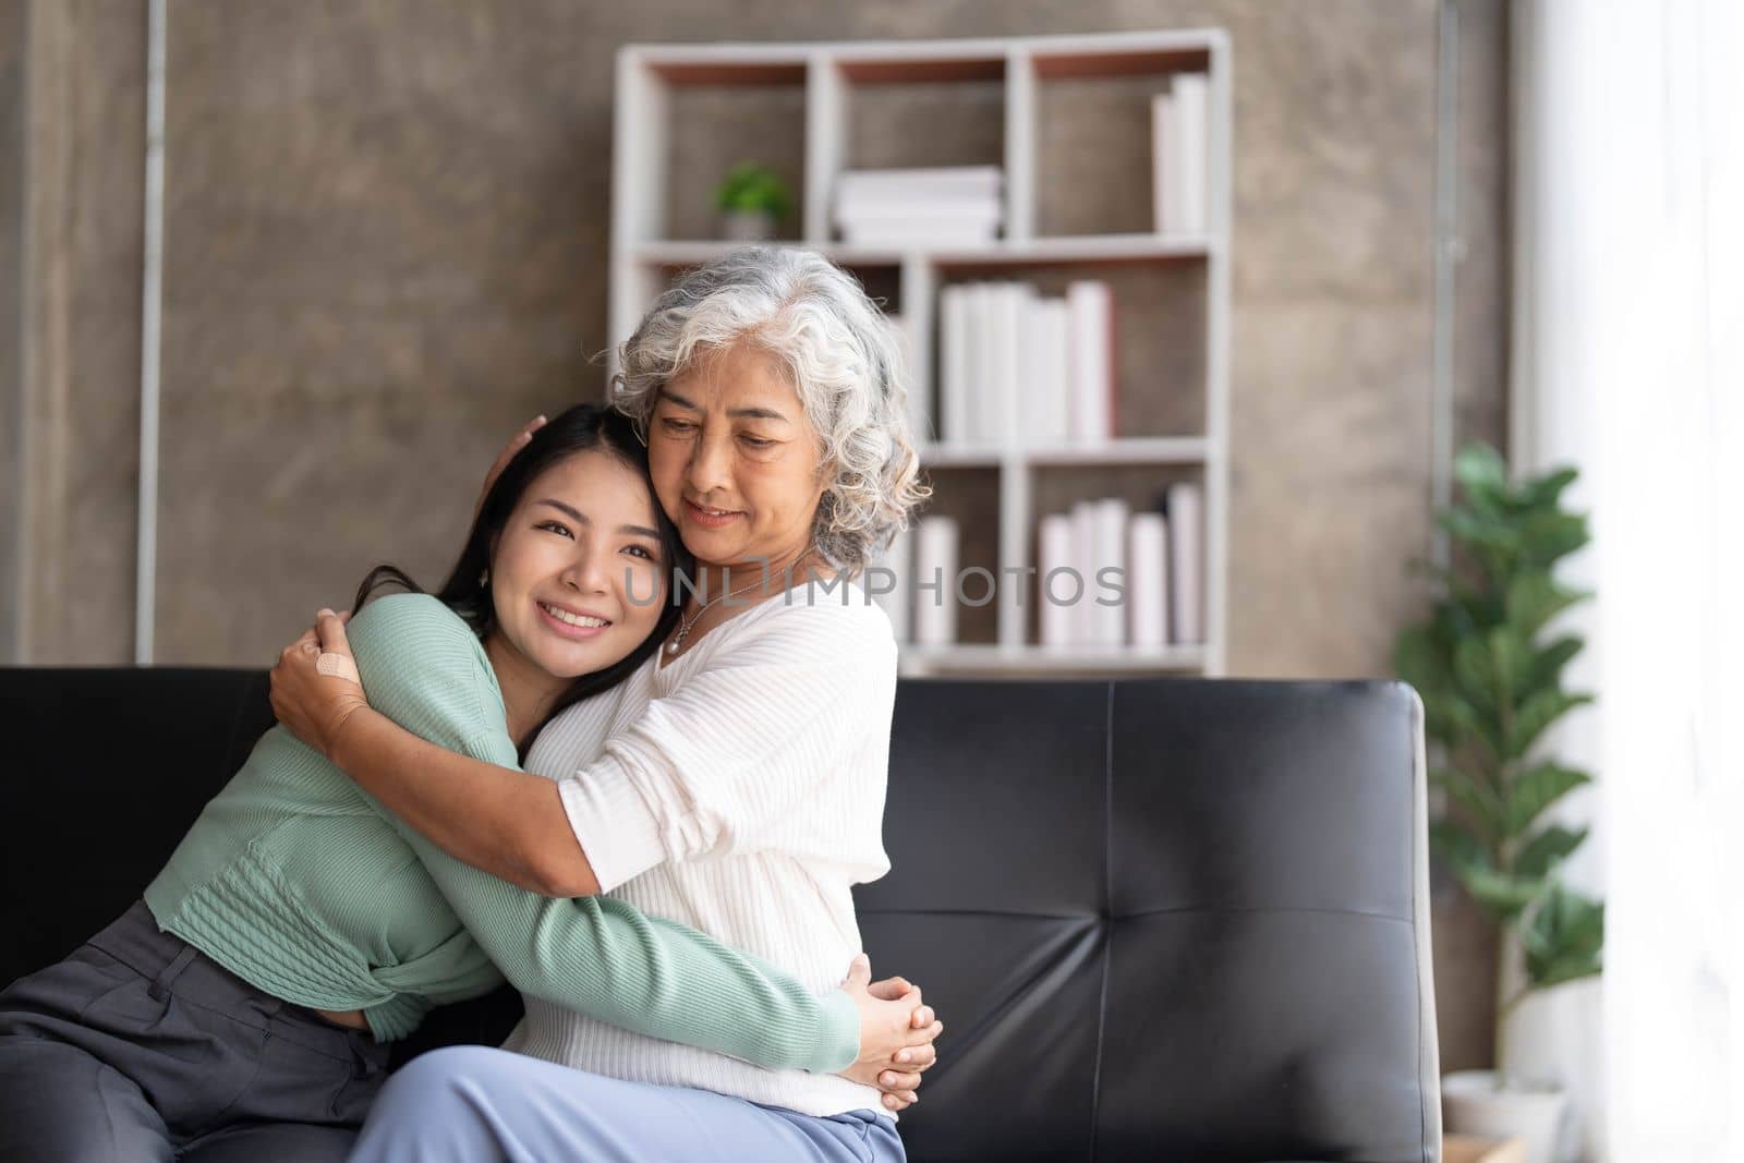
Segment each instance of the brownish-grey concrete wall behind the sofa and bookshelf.
[{"label": "brownish-grey concrete wall behind the sofa and bookshelf", "polygon": [[[3,345],[0,436],[23,443],[0,516],[28,549],[0,570],[19,582],[12,650],[45,663],[131,657],[143,7],[0,0],[0,45],[21,21],[30,45],[23,71],[0,47],[9,162],[7,94],[30,98],[30,166],[0,180],[0,340],[21,333],[16,359]],[[1458,436],[1500,441],[1505,5],[1458,9]],[[265,664],[377,560],[436,577],[506,434],[600,391],[612,52],[631,40],[1228,28],[1230,666],[1386,673],[1421,610],[1402,567],[1432,528],[1434,0],[171,0],[169,14],[162,663]],[[1069,126],[1050,138],[1073,141]],[[1475,1064],[1489,949],[1451,894],[1435,922],[1444,1065]]]}]

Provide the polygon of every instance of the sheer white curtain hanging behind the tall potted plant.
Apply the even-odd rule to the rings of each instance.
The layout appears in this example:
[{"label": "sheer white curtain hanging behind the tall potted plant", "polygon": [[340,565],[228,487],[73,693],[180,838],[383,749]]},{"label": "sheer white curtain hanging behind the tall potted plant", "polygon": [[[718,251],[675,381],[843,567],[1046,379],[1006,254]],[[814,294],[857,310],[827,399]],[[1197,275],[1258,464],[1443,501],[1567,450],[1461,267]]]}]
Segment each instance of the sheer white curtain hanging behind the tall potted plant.
[{"label": "sheer white curtain hanging behind the tall potted plant", "polygon": [[1570,879],[1604,976],[1540,996],[1566,1160],[1744,1161],[1744,3],[1516,0],[1519,473],[1575,464],[1598,694],[1549,746],[1598,783]]}]

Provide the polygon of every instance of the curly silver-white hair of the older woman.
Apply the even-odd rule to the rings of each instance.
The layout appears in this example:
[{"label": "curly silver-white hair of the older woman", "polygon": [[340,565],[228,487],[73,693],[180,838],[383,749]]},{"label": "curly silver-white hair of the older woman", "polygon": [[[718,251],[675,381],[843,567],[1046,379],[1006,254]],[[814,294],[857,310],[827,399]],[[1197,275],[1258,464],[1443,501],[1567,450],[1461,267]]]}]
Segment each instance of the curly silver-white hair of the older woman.
[{"label": "curly silver-white hair of the older woman", "polygon": [[684,272],[619,349],[612,405],[645,436],[659,389],[710,354],[753,343],[785,370],[828,478],[813,546],[856,575],[931,495],[909,432],[909,377],[877,305],[816,251],[741,246]]}]

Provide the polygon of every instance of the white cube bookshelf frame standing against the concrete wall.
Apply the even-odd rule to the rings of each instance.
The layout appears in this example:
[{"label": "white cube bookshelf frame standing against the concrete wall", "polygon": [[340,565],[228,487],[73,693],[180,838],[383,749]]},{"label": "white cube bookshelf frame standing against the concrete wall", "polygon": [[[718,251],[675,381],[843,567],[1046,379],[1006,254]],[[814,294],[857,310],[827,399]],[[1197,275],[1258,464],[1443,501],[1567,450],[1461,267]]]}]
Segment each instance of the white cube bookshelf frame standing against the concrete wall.
[{"label": "white cube bookshelf frame standing against the concrete wall", "polygon": [[[1230,134],[1231,54],[1223,30],[1174,30],[1085,37],[1010,37],[970,40],[828,42],[828,44],[633,44],[617,52],[614,110],[614,185],[610,256],[610,340],[633,330],[677,270],[705,263],[734,242],[670,237],[675,94],[687,87],[794,87],[804,103],[804,178],[799,237],[776,244],[816,249],[855,270],[882,270],[893,279],[914,356],[914,391],[933,396],[935,312],[944,284],[964,277],[999,277],[1003,269],[1071,272],[1111,267],[1174,269],[1196,265],[1203,277],[1203,382],[1121,384],[1121,391],[1191,396],[1202,431],[1125,436],[1083,446],[926,445],[923,466],[942,495],[952,474],[996,474],[998,567],[1032,565],[1039,474],[1073,471],[1148,471],[1193,474],[1203,488],[1205,642],[1158,650],[1031,645],[1027,614],[1001,603],[996,642],[942,649],[903,649],[905,673],[1066,675],[1066,673],[1224,673],[1228,478],[1230,478]],[[1209,87],[1207,230],[1181,235],[1132,230],[1106,234],[1038,232],[1038,103],[1052,82],[1202,73]],[[1005,237],[977,248],[867,248],[835,239],[830,199],[837,176],[851,167],[851,110],[869,85],[950,82],[1003,84]],[[682,94],[680,94],[682,96]],[[1149,178],[1146,152],[1134,174]],[[706,197],[708,190],[694,192]],[[616,366],[612,366],[616,371]],[[1165,478],[1158,478],[1165,479]]]}]

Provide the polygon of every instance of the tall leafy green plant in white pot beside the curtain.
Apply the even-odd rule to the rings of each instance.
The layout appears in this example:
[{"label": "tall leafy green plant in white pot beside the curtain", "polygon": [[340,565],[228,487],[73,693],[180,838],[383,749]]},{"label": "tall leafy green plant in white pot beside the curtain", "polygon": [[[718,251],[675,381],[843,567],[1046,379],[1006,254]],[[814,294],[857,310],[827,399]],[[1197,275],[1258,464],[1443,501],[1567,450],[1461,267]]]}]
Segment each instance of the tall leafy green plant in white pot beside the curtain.
[{"label": "tall leafy green plant in white pot beside the curtain", "polygon": [[1601,971],[1604,905],[1559,877],[1587,828],[1543,823],[1545,809],[1592,778],[1536,746],[1550,724],[1592,701],[1563,689],[1563,668],[1584,640],[1549,636],[1557,614],[1592,596],[1552,577],[1587,544],[1587,518],[1561,507],[1575,469],[1510,485],[1502,455],[1472,443],[1454,459],[1454,476],[1463,504],[1437,523],[1465,568],[1414,563],[1434,577],[1435,603],[1393,649],[1442,757],[1430,783],[1446,793],[1448,813],[1430,825],[1430,846],[1498,929],[1496,1069],[1448,1074],[1442,1100],[1449,1132],[1519,1135],[1529,1163],[1552,1163],[1566,1097],[1561,1086],[1510,1078],[1505,1046],[1528,997]]}]

